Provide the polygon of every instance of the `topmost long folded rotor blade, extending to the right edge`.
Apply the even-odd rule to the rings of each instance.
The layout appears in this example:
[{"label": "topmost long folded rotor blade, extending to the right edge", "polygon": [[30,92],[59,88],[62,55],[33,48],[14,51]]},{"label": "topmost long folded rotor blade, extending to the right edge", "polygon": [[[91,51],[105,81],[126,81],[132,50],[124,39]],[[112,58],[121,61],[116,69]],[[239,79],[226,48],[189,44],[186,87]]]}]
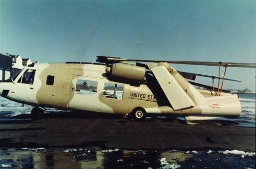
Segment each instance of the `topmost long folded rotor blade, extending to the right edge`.
[{"label": "topmost long folded rotor blade, extending to the right edge", "polygon": [[167,62],[172,64],[185,64],[185,65],[203,65],[203,66],[223,66],[223,67],[242,67],[242,68],[256,68],[255,63],[234,63],[234,62],[198,62],[198,61],[157,61],[157,60],[138,60],[138,59],[122,59],[98,56],[97,62]]}]

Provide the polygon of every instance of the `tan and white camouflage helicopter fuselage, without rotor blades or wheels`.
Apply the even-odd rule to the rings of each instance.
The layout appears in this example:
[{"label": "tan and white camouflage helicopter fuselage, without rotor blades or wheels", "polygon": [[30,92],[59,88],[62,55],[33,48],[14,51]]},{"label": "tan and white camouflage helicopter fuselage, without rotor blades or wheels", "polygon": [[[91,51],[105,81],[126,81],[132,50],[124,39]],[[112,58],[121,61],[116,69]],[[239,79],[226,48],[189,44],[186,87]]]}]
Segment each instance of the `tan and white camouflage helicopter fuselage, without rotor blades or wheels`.
[{"label": "tan and white camouflage helicopter fuselage, without rotor blades or wheels", "polygon": [[[211,91],[197,90],[178,72],[173,74],[168,84],[177,81],[182,92],[177,96],[167,96],[161,83],[159,85],[151,74],[145,73],[147,78],[143,75],[142,79],[138,77],[140,80],[124,80],[113,78],[107,68],[106,65],[92,63],[36,63],[2,81],[0,94],[23,104],[110,114],[128,115],[138,107],[148,114],[185,117],[238,117],[241,113],[237,95],[222,93],[222,96],[215,96]],[[176,89],[170,91],[175,92]],[[191,106],[180,109],[172,106],[176,97],[181,98],[178,95],[188,97]]]}]

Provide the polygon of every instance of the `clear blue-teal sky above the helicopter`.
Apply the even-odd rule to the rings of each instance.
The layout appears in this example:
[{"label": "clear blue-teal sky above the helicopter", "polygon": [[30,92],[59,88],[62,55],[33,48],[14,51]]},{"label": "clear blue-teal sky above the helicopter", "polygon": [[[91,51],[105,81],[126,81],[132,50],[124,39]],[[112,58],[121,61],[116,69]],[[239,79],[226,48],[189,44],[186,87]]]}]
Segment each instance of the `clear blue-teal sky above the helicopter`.
[{"label": "clear blue-teal sky above the helicopter", "polygon": [[[256,58],[254,0],[0,0],[0,26],[1,53],[39,62],[95,62],[96,55],[243,63]],[[218,67],[173,66],[218,75]],[[226,77],[243,83],[225,81],[224,88],[255,91],[255,69],[228,68]],[[197,80],[211,85],[211,79]]]}]

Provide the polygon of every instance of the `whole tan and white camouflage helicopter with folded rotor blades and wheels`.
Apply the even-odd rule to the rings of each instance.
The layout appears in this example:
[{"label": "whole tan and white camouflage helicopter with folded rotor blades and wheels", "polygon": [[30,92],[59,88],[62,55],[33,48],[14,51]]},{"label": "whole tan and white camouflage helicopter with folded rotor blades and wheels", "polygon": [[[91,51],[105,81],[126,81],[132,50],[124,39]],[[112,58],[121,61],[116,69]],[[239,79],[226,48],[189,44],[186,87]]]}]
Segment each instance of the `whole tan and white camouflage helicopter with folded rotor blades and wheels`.
[{"label": "whole tan and white camouflage helicopter with folded rotor blades and wheels", "polygon": [[[0,94],[10,100],[42,108],[122,114],[144,120],[147,114],[183,116],[186,120],[239,117],[238,95],[222,90],[221,67],[255,68],[249,63],[149,61],[97,57],[98,63],[36,63],[0,82]],[[134,63],[141,62],[141,63]],[[169,63],[218,66],[218,88],[196,89],[193,73],[178,72]],[[204,76],[204,75],[203,75]],[[222,82],[221,82],[222,79]],[[231,79],[227,79],[231,80]],[[236,81],[236,80],[235,80]],[[207,88],[207,86],[202,86]],[[40,108],[42,107],[42,108]]]}]

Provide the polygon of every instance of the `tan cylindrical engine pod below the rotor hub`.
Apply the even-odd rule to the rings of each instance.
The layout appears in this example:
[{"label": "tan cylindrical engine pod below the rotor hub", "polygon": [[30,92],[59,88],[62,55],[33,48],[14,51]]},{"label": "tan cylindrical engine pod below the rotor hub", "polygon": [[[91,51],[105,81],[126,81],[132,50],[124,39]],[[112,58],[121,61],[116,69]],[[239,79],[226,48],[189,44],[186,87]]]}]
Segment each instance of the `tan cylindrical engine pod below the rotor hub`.
[{"label": "tan cylindrical engine pod below the rotor hub", "polygon": [[106,68],[106,73],[111,75],[111,78],[124,78],[136,81],[143,81],[145,77],[145,67],[115,63],[112,67]]}]

